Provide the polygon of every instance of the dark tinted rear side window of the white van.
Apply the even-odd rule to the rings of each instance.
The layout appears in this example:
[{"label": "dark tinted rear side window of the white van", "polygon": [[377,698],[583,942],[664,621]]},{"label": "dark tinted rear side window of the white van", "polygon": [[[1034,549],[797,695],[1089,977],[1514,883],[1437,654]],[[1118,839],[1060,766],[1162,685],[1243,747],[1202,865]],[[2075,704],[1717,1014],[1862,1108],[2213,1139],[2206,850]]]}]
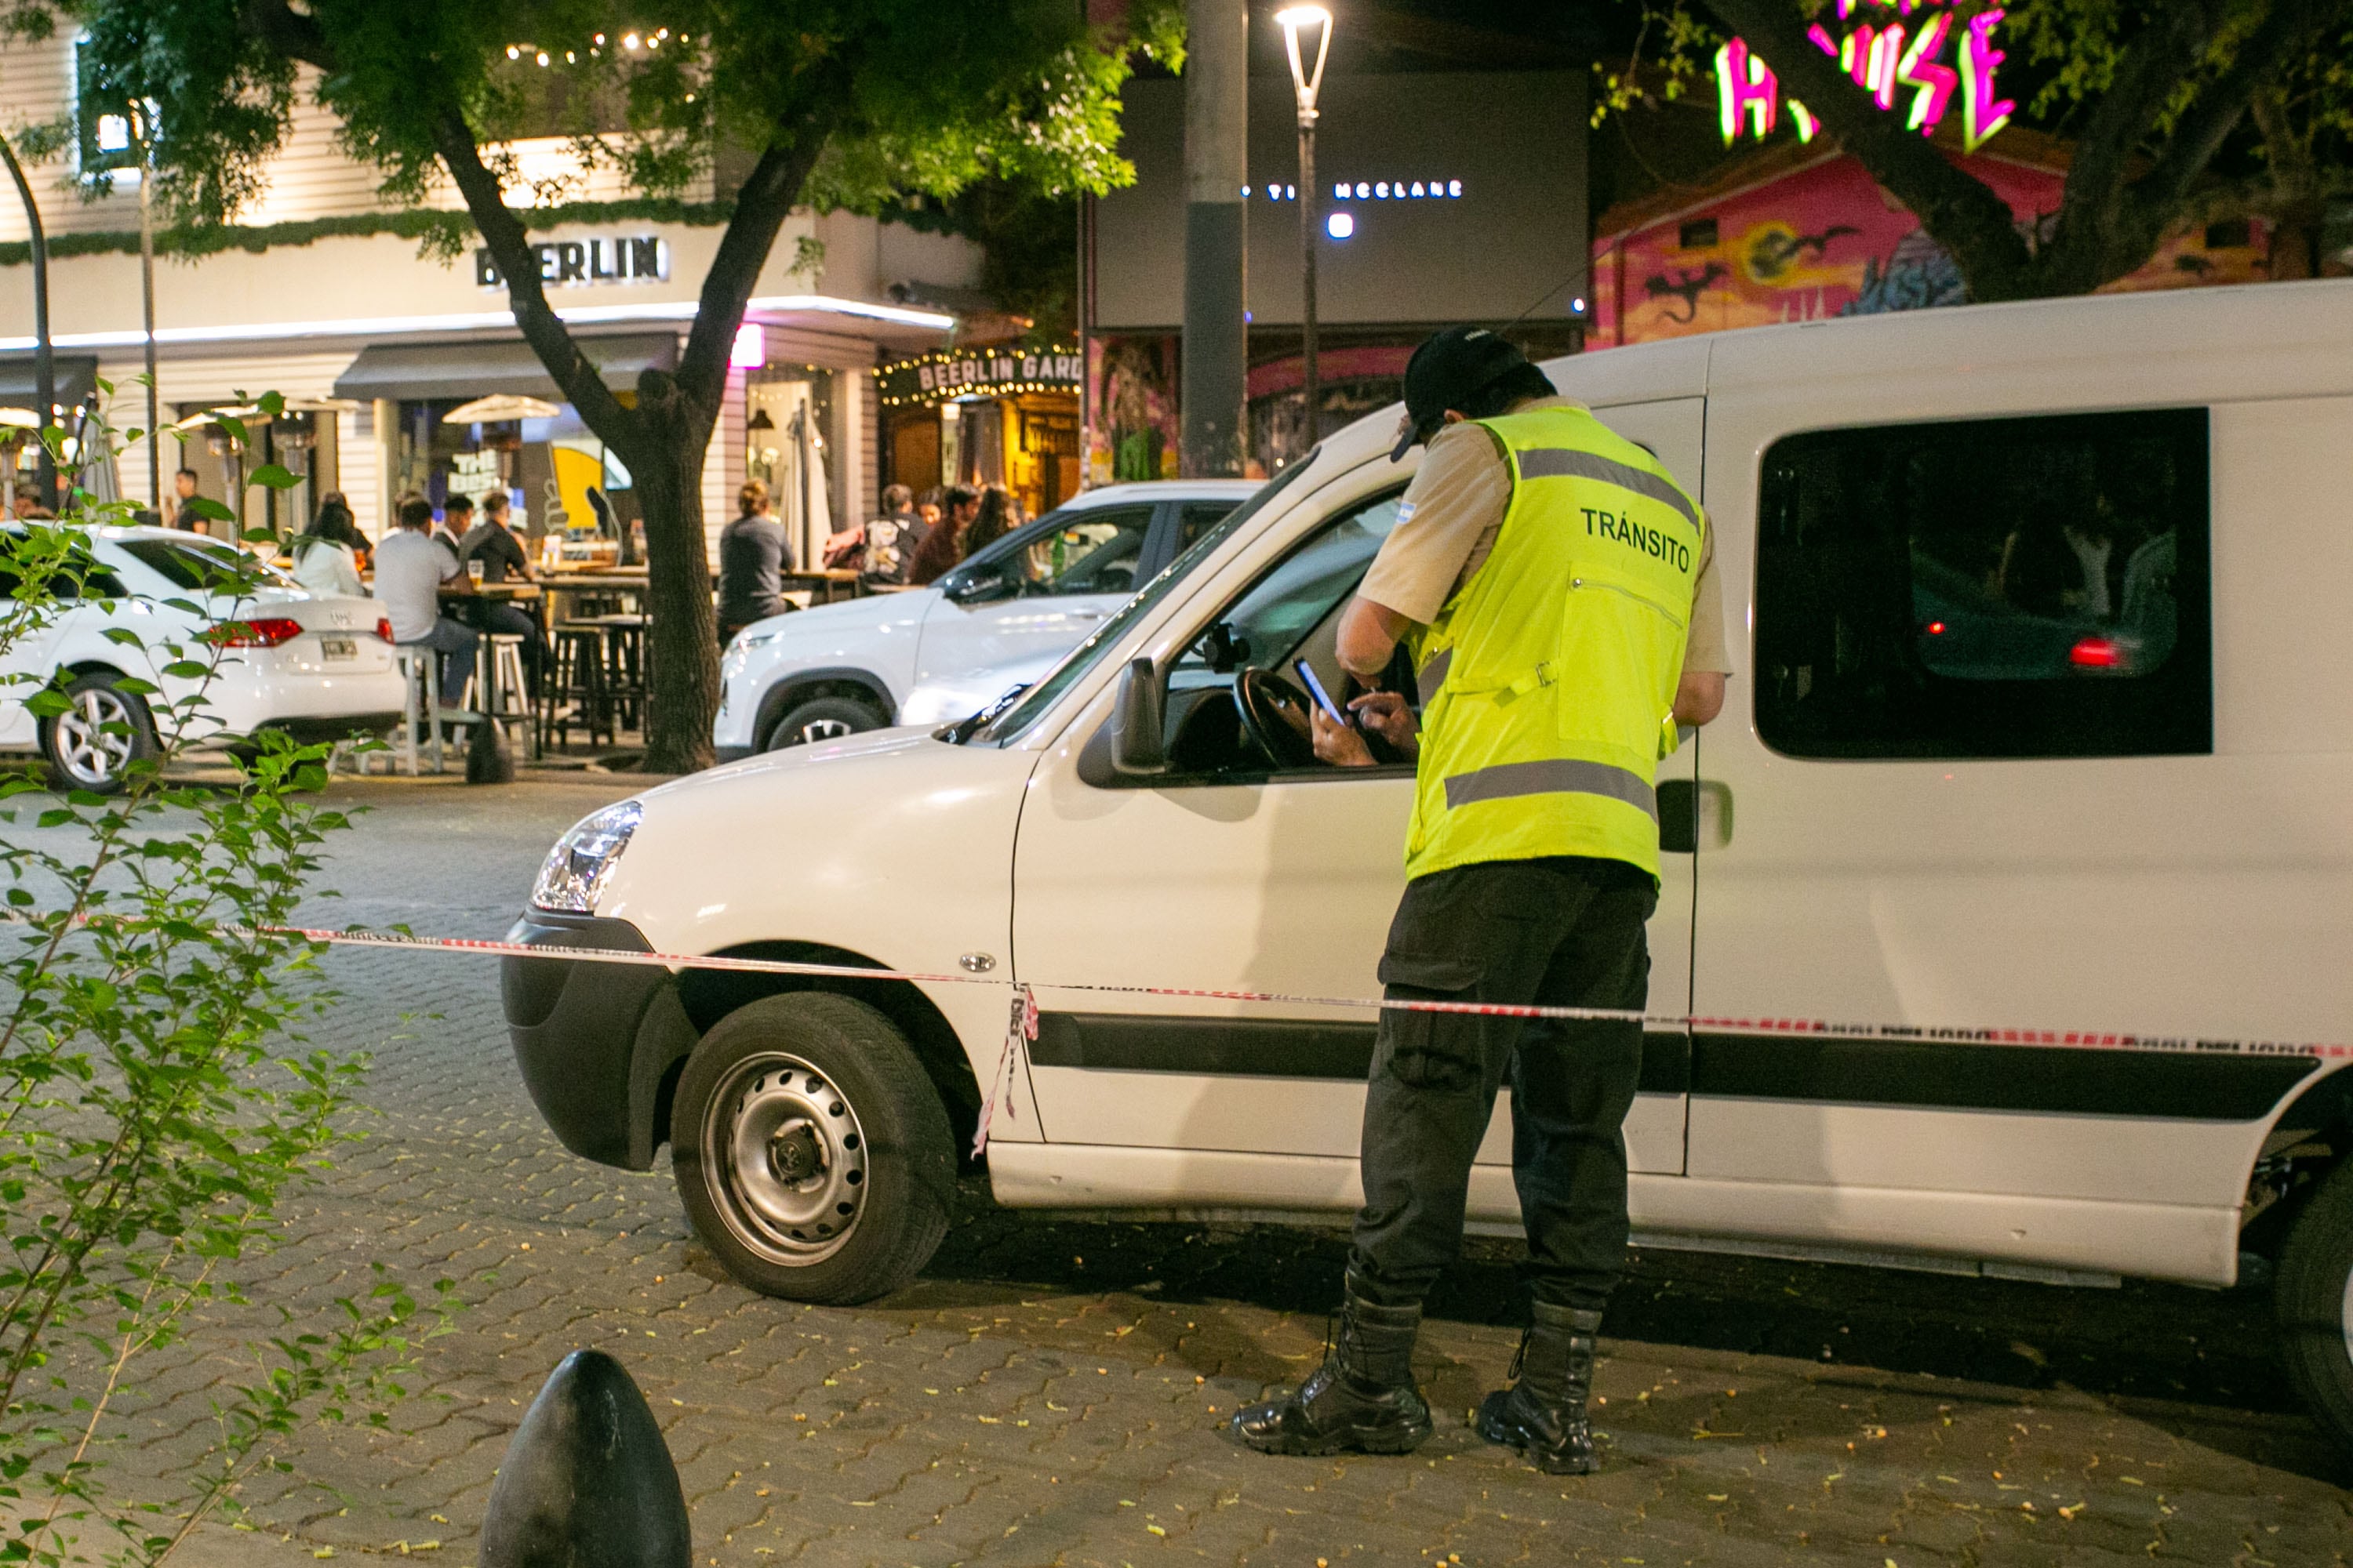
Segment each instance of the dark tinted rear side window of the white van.
[{"label": "dark tinted rear side window of the white van", "polygon": [[2214,750],[2207,411],[1765,451],[1758,733],[1791,757]]}]

